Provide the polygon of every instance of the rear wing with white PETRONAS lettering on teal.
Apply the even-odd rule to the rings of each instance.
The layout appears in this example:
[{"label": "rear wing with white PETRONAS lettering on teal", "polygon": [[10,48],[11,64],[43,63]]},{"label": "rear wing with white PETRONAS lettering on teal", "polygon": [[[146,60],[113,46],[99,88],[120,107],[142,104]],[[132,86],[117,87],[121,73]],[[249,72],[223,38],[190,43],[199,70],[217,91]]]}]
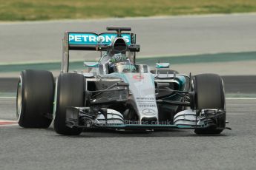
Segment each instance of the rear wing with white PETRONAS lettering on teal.
[{"label": "rear wing with white PETRONAS lettering on teal", "polygon": [[129,50],[138,52],[140,46],[136,44],[134,33],[81,33],[65,32],[62,39],[62,68],[61,72],[68,72],[70,50],[104,51],[111,47],[112,40],[120,36],[125,39]]}]

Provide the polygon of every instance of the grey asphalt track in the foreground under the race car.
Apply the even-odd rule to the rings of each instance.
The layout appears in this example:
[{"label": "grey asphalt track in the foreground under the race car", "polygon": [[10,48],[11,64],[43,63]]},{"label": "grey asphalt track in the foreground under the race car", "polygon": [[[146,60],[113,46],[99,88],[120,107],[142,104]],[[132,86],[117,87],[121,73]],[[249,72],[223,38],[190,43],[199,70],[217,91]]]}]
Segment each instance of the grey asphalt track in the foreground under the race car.
[{"label": "grey asphalt track in the foreground under the race car", "polygon": [[[0,118],[15,120],[15,99],[0,99]],[[256,169],[256,100],[226,100],[232,131],[83,132],[0,126],[1,169]]]}]

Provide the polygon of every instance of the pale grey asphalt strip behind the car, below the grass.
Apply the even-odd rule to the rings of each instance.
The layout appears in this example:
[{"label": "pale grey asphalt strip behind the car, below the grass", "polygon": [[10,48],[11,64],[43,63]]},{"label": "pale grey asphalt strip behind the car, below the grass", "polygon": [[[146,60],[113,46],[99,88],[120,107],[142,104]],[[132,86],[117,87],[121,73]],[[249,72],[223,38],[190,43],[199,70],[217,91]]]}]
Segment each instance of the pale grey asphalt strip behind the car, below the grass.
[{"label": "pale grey asphalt strip behind the car, below the grass", "polygon": [[[0,23],[0,63],[60,61],[65,31],[102,33],[108,26],[132,27],[141,45],[138,56],[256,51],[255,18],[256,13]],[[81,60],[81,52],[70,56]]]}]

